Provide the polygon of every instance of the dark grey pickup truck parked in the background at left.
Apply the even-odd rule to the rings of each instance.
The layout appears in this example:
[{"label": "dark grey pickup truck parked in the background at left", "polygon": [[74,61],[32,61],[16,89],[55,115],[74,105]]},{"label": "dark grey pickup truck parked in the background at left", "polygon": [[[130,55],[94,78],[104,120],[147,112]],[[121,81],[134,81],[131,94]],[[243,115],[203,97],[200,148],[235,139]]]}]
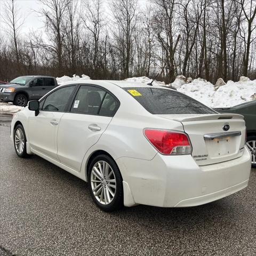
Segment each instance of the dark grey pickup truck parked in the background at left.
[{"label": "dark grey pickup truck parked in the background at left", "polygon": [[26,106],[29,100],[39,100],[58,83],[52,76],[19,76],[10,83],[0,85],[0,101]]}]

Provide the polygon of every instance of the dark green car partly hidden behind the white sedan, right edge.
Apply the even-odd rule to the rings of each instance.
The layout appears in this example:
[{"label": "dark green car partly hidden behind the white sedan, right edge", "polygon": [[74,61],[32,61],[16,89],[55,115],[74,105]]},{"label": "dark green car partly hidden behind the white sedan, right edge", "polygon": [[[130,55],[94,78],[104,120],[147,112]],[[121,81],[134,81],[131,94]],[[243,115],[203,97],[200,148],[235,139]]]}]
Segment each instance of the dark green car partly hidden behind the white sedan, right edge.
[{"label": "dark green car partly hidden behind the white sedan, right edge", "polygon": [[256,100],[230,108],[214,108],[214,110],[219,113],[234,113],[244,116],[247,130],[246,145],[252,154],[252,167],[256,168]]}]

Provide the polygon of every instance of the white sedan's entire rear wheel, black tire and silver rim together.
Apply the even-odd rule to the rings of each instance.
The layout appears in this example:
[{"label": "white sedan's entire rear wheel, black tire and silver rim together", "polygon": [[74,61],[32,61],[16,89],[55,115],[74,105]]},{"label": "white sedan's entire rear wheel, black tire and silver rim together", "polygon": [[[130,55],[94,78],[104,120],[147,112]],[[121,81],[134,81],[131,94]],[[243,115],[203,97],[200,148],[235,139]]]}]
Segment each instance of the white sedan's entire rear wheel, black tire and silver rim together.
[{"label": "white sedan's entire rear wheel, black tire and silver rim together", "polygon": [[93,159],[88,172],[92,199],[106,212],[116,211],[123,206],[123,180],[115,161],[108,155]]}]

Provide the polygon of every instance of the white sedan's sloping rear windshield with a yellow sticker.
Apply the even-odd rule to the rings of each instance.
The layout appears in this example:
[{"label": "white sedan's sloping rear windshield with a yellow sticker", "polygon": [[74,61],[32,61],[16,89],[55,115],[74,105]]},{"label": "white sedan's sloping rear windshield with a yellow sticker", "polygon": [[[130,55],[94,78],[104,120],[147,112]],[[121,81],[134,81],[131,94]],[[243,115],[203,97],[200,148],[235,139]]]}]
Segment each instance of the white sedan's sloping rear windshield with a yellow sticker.
[{"label": "white sedan's sloping rear windshield with a yellow sticker", "polygon": [[123,89],[151,114],[216,114],[211,108],[177,91],[154,87]]}]

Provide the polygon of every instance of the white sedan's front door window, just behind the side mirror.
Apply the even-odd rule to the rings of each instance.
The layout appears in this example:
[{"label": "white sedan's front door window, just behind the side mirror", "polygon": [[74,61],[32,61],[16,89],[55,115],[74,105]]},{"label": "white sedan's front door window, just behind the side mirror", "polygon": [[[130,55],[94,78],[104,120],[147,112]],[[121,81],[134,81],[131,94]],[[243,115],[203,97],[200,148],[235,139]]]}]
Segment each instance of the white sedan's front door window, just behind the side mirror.
[{"label": "white sedan's front door window, just behind the side mirror", "polygon": [[72,92],[74,91],[74,89],[75,89],[75,85],[72,85],[72,86],[66,86],[66,87],[60,88],[52,92],[44,100],[42,110],[60,111],[60,112],[65,111],[69,103],[68,100]]}]

